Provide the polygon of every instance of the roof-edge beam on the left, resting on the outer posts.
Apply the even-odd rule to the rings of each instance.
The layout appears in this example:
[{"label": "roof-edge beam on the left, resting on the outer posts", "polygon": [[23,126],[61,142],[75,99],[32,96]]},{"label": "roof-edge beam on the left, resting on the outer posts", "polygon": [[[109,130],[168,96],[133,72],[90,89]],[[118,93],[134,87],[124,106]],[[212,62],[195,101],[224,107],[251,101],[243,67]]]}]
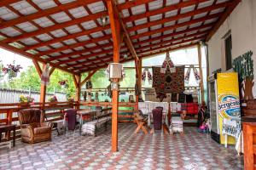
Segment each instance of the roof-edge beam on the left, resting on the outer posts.
[{"label": "roof-edge beam on the left, resting on the outer posts", "polygon": [[[3,43],[3,42],[0,42],[0,47],[3,48],[3,49],[6,49],[8,51],[11,51],[11,52],[13,52],[15,54],[20,54],[20,55],[22,55],[22,56],[24,56],[24,57],[26,57],[28,59],[35,59],[35,60],[37,60],[39,62],[42,62],[44,64],[49,63],[49,61],[47,59],[41,59],[41,58],[39,58],[39,57],[37,57],[37,56],[35,56],[33,54],[30,54],[30,53],[27,53],[27,52],[23,51],[20,48],[15,48],[15,47],[10,46],[9,44]],[[53,66],[55,68],[58,68],[61,71],[66,71],[66,72],[69,72],[69,73],[72,73],[72,74],[75,74],[75,75],[78,74],[77,72],[70,71],[67,68],[61,67],[60,65],[56,65],[54,63],[49,63],[49,65]]]}]

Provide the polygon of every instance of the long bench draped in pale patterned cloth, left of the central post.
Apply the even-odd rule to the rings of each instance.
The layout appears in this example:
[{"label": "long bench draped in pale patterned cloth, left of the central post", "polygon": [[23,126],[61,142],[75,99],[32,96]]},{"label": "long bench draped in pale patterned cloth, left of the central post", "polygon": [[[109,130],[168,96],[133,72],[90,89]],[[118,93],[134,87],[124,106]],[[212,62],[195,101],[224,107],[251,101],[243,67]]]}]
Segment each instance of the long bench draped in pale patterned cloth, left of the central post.
[{"label": "long bench draped in pale patterned cloth, left of the central post", "polygon": [[97,112],[93,121],[84,123],[82,126],[82,134],[96,136],[97,133],[102,132],[102,127],[105,127],[103,129],[107,130],[108,122],[111,120],[111,111],[111,108],[106,108]]}]

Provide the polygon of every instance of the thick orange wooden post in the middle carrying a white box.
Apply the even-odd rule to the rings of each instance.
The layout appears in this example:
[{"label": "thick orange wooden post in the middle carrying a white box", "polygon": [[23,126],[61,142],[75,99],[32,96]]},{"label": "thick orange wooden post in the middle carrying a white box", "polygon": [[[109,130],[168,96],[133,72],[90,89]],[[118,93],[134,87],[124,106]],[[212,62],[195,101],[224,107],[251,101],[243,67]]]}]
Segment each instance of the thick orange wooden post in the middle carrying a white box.
[{"label": "thick orange wooden post in the middle carrying a white box", "polygon": [[[113,38],[113,63],[119,63],[120,53],[120,23],[115,4],[112,0],[107,0],[108,16]],[[118,79],[113,82],[119,82]],[[112,151],[118,151],[118,111],[119,111],[119,90],[113,90],[112,95]]]}]

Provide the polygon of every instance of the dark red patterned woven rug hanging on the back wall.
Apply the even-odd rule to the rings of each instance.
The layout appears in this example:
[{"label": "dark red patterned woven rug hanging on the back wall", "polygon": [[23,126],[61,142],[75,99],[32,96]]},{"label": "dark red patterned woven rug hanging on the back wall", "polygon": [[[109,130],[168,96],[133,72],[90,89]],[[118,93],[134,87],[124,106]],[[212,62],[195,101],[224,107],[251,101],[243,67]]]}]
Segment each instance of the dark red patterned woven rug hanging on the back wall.
[{"label": "dark red patterned woven rug hanging on the back wall", "polygon": [[160,73],[160,67],[152,67],[153,88],[156,93],[180,94],[184,91],[184,67],[175,67],[176,71],[166,70],[165,74]]}]

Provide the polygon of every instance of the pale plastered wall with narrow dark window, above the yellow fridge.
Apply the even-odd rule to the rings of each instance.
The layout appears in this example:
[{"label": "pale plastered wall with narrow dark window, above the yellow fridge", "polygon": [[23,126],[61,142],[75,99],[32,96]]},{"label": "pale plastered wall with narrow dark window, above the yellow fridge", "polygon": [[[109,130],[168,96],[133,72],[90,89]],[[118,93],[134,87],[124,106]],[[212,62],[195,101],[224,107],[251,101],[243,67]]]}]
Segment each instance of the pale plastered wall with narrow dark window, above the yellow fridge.
[{"label": "pale plastered wall with narrow dark window, above the yellow fridge", "polygon": [[[235,59],[247,51],[253,51],[254,82],[256,78],[256,0],[241,0],[224,24],[207,42],[209,71],[222,68],[225,71],[224,35],[231,31],[232,58]],[[253,87],[256,96],[256,84]]]}]

